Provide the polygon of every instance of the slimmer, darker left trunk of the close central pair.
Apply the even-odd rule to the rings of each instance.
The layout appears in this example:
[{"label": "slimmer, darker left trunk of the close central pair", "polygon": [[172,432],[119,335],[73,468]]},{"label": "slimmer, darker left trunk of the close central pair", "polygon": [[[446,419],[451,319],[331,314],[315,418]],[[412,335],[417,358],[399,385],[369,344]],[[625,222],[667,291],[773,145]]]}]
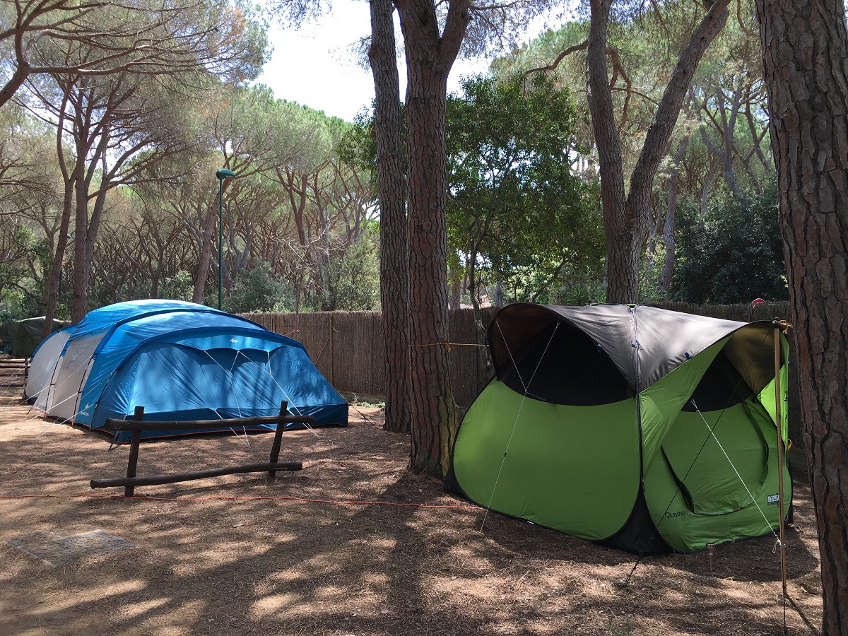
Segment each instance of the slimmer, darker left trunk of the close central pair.
[{"label": "slimmer, darker left trunk of the close central pair", "polygon": [[383,428],[410,432],[409,240],[406,225],[403,126],[394,42],[392,0],[371,0],[371,48],[380,199],[380,309],[386,343],[386,421]]}]

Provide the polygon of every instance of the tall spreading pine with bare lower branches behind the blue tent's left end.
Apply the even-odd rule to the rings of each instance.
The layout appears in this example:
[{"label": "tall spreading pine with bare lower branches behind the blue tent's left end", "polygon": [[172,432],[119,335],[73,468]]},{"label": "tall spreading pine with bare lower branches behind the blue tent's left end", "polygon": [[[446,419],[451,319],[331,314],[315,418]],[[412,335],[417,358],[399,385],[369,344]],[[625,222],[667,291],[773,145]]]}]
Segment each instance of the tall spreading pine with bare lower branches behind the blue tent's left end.
[{"label": "tall spreading pine with bare lower branches behind the blue tent's left end", "polygon": [[[61,28],[37,32],[27,48],[40,64],[28,74],[28,89],[40,100],[32,112],[47,109],[44,119],[58,131],[65,190],[45,314],[52,316],[56,268],[64,262],[63,237],[75,211],[71,315],[80,320],[88,309],[89,265],[107,192],[151,176],[169,178],[155,168],[191,142],[187,123],[193,109],[185,108],[187,98],[212,73],[232,81],[254,77],[265,35],[250,12],[203,3],[165,9],[144,2],[98,3],[80,12],[64,8],[70,10],[61,17]],[[15,33],[20,35],[20,29]],[[45,46],[39,46],[42,40]],[[21,68],[34,69],[29,63]],[[142,81],[150,75],[156,81]],[[48,326],[49,320],[46,331]]]}]

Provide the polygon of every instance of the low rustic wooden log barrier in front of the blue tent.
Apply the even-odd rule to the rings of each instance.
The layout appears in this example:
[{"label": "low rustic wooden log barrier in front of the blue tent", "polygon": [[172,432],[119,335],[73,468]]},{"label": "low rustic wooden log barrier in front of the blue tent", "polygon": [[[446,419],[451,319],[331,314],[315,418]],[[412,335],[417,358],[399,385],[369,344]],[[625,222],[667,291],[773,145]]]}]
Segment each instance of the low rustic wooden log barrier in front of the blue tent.
[{"label": "low rustic wooden log barrier in front of the blue tent", "polygon": [[[204,479],[205,477],[220,477],[222,475],[234,475],[241,472],[264,472],[268,471],[268,477],[276,477],[277,471],[299,471],[303,469],[303,463],[299,461],[278,461],[280,446],[282,444],[282,432],[286,424],[315,424],[312,416],[289,416],[287,415],[288,403],[280,404],[280,414],[268,417],[240,417],[232,420],[194,420],[194,421],[144,421],[144,407],[137,406],[131,420],[106,420],[103,429],[107,431],[129,431],[132,433],[130,440],[130,457],[126,465],[126,477],[114,477],[111,479],[92,479],[92,488],[109,488],[110,486],[123,486],[124,495],[131,497],[135,494],[136,486],[155,486],[162,483],[187,482],[192,479]],[[258,424],[276,424],[274,442],[271,444],[271,458],[268,463],[242,464],[240,466],[226,466],[221,468],[209,468],[204,471],[181,472],[170,475],[154,475],[151,477],[136,477],[138,464],[138,449],[141,445],[142,431],[198,431],[209,428],[235,428],[256,426]]]}]

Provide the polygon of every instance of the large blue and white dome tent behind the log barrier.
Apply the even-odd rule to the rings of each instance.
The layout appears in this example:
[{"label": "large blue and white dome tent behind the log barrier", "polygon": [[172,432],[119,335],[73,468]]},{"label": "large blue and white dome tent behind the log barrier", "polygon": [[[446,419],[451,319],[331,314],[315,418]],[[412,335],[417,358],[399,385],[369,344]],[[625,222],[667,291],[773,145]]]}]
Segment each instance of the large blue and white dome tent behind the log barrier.
[{"label": "large blue and white dome tent behind the log barrier", "polygon": [[91,428],[129,417],[138,405],[150,420],[276,416],[283,400],[289,412],[315,416],[319,425],[345,425],[348,418],[346,401],[302,344],[241,316],[181,301],[89,312],[42,343],[25,394],[48,416]]}]

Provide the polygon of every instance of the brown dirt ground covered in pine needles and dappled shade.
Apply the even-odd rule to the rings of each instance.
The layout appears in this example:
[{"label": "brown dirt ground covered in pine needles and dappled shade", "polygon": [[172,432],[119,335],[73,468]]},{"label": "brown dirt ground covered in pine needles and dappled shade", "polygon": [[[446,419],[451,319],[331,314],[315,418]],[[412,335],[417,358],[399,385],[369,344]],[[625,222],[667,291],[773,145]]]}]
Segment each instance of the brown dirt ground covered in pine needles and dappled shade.
[{"label": "brown dirt ground covered in pine needles and dappled shade", "polygon": [[[816,527],[803,473],[787,531],[715,555],[633,555],[486,514],[405,470],[376,409],[287,432],[304,469],[92,490],[128,447],[20,405],[0,360],[0,635],[819,633]],[[139,475],[266,461],[271,435],[142,444]],[[101,530],[135,547],[50,566],[5,543]],[[635,570],[634,570],[635,566]],[[631,576],[632,573],[632,576]],[[785,613],[784,613],[785,611]]]}]

